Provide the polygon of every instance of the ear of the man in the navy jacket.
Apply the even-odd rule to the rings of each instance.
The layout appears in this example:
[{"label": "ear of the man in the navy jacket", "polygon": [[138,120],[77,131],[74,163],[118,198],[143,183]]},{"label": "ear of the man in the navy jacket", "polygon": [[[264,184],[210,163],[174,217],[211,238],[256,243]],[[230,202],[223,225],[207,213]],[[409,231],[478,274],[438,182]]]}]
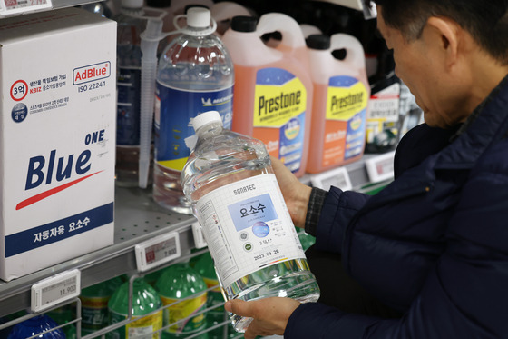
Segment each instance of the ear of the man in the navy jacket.
[{"label": "ear of the man in the navy jacket", "polygon": [[463,29],[454,20],[445,17],[431,16],[427,20],[425,29],[430,34],[434,48],[442,54],[445,66],[456,64],[460,57],[461,37]]}]

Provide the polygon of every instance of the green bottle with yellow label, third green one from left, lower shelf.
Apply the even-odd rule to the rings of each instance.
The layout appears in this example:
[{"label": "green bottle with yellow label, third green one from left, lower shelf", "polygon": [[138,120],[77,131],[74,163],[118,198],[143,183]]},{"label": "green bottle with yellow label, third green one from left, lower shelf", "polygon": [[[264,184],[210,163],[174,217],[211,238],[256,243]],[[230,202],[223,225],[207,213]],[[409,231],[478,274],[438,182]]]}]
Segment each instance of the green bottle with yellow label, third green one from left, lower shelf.
[{"label": "green bottle with yellow label, third green one from left, lower shelf", "polygon": [[[155,283],[164,306],[164,326],[171,326],[162,331],[163,339],[186,338],[206,329],[207,320],[204,311],[207,304],[207,285],[203,278],[190,264],[171,264],[163,270]],[[183,300],[182,300],[183,299]],[[192,314],[197,314],[192,317]],[[208,334],[195,336],[197,339],[208,339]]]}]

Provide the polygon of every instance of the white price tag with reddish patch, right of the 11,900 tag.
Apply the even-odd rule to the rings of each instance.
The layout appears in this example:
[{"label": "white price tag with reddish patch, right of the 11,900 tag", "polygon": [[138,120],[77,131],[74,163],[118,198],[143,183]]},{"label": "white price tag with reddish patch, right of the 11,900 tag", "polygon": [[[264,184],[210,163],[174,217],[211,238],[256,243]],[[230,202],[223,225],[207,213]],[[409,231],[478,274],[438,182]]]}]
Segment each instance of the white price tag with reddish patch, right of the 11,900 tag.
[{"label": "white price tag with reddish patch, right of the 11,900 tag", "polygon": [[147,240],[135,247],[138,271],[148,271],[181,256],[178,232],[171,232]]}]

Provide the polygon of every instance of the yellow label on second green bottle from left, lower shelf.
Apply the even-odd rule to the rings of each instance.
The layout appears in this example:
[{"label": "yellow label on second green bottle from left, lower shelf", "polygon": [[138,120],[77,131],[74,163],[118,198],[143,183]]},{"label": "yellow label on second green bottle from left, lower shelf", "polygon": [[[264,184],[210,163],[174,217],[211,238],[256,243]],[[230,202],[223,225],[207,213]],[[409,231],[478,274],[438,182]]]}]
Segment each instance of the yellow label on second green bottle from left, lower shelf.
[{"label": "yellow label on second green bottle from left, lower shelf", "polygon": [[[109,311],[111,324],[116,324],[127,319],[125,314],[118,314],[111,309]],[[137,320],[126,324],[125,327],[113,330],[111,332],[112,338],[129,339],[135,337],[141,339],[159,339],[159,332],[156,331],[162,328],[162,311],[143,317],[136,316],[134,319]]]}]

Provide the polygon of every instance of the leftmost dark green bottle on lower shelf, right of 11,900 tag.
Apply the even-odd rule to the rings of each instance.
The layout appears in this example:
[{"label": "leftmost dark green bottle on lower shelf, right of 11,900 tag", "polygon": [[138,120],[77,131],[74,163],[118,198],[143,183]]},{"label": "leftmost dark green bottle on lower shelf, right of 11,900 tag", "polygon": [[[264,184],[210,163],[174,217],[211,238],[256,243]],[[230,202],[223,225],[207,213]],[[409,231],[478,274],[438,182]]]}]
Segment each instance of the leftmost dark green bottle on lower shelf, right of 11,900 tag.
[{"label": "leftmost dark green bottle on lower shelf, right of 11,900 tag", "polygon": [[99,284],[83,288],[81,299],[81,333],[91,334],[108,324],[108,302],[112,294],[123,284],[117,276]]}]

